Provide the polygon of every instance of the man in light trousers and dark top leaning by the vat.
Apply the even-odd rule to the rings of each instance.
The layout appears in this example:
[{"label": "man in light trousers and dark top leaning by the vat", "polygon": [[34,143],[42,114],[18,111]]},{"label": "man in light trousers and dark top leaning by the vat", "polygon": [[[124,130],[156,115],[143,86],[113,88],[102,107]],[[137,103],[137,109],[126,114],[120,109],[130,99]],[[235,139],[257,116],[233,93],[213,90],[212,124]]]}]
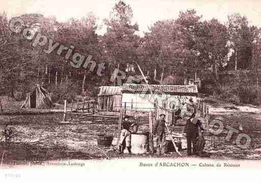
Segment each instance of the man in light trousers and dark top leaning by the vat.
[{"label": "man in light trousers and dark top leaning by the vat", "polygon": [[131,133],[130,127],[134,125],[134,123],[129,121],[129,116],[124,116],[120,136],[120,145],[119,145],[119,154],[123,153],[125,147],[127,147],[129,153],[131,153]]}]

